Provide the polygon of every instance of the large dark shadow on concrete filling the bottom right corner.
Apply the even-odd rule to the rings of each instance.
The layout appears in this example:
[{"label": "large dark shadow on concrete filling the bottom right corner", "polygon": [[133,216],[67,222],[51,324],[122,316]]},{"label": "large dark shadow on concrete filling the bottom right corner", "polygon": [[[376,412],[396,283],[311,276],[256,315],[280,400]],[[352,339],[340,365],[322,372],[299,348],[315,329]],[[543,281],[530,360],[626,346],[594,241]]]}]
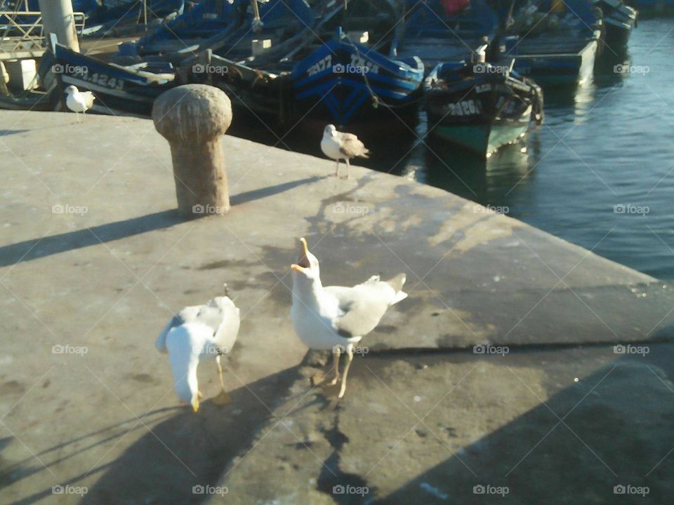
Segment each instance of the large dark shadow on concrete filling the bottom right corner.
[{"label": "large dark shadow on concrete filling the bottom right corner", "polygon": [[[373,503],[666,503],[674,492],[674,353],[661,351],[600,368]],[[453,419],[431,418],[449,443]],[[649,492],[614,494],[628,485]]]}]

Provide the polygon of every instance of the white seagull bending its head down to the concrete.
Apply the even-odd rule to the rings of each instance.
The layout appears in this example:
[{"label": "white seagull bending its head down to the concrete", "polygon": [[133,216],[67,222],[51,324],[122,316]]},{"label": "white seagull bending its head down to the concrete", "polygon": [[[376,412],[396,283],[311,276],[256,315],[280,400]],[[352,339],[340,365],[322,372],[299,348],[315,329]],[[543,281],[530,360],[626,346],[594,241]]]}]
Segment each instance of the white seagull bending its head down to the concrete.
[{"label": "white seagull bending its head down to the concrete", "polygon": [[[225,292],[227,285],[225,285]],[[203,305],[185,307],[175,316],[157,338],[157,349],[169,353],[173,386],[178,399],[199,412],[197,366],[200,361],[216,358],[220,393],[213,401],[218,405],[230,403],[225,393],[220,356],[232,350],[239,332],[239,309],[227,297],[216,297]]]}]

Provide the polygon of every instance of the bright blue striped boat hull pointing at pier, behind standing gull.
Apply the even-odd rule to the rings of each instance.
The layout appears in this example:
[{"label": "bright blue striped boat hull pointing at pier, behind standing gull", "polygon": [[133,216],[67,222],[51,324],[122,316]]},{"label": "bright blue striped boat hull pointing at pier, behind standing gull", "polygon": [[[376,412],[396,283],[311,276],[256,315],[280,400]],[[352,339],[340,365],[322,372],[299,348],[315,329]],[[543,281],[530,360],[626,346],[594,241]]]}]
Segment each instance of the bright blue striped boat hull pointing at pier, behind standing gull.
[{"label": "bright blue striped boat hull pointing at pier, behind standing gull", "polygon": [[416,110],[423,63],[391,60],[343,37],[300,61],[291,79],[293,116],[343,128],[387,116],[402,119]]}]

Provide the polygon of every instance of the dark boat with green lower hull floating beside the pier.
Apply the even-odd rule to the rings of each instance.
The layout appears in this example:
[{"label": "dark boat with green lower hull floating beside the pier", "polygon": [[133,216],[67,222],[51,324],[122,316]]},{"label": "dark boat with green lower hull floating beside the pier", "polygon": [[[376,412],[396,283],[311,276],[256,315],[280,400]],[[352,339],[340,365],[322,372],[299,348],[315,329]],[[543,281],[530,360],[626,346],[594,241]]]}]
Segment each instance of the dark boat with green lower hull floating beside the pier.
[{"label": "dark boat with green lower hull floating beside the pier", "polygon": [[430,135],[489,157],[543,122],[543,93],[509,66],[443,63],[424,85]]}]

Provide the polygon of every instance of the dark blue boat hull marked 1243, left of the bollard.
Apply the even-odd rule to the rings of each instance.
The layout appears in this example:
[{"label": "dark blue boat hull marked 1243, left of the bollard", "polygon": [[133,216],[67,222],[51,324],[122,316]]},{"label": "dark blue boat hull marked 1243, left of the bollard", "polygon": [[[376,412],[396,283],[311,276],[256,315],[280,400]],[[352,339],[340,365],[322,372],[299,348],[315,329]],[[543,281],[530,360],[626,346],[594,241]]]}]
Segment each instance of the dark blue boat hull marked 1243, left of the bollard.
[{"label": "dark blue boat hull marked 1243, left of the bollard", "polygon": [[89,58],[56,44],[55,66],[62,87],[77,86],[96,97],[93,112],[150,116],[152,104],[164,91],[177,86],[176,79],[154,79],[147,73],[133,72],[117,65]]}]

